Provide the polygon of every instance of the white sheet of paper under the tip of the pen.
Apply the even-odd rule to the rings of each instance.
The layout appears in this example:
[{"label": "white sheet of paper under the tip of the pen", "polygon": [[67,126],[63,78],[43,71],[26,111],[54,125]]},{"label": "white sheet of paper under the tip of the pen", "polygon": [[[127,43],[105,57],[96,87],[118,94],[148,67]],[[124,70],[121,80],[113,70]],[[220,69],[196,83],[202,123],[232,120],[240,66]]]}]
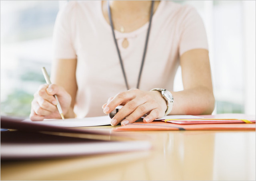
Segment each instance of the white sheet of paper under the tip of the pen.
[{"label": "white sheet of paper under the tip of the pen", "polygon": [[[68,118],[68,119],[47,119],[43,121],[33,122],[34,124],[44,124],[50,126],[62,126],[62,127],[87,127],[87,126],[104,126],[110,125],[109,116],[88,117],[88,118]],[[25,122],[31,122],[31,120],[24,120]]]}]

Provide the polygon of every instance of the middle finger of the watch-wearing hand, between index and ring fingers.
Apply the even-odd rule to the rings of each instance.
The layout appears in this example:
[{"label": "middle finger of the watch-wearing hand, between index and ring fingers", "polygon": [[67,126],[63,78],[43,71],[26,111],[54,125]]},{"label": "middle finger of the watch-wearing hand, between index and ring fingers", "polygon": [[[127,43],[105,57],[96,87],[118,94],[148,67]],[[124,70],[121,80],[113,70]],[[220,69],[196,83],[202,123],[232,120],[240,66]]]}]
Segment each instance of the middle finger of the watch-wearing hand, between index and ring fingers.
[{"label": "middle finger of the watch-wearing hand, between index and ring fingers", "polygon": [[144,104],[146,101],[142,98],[134,98],[130,100],[127,104],[125,104],[112,118],[111,125],[115,126],[119,122],[121,122],[126,116],[134,112],[141,104]]}]

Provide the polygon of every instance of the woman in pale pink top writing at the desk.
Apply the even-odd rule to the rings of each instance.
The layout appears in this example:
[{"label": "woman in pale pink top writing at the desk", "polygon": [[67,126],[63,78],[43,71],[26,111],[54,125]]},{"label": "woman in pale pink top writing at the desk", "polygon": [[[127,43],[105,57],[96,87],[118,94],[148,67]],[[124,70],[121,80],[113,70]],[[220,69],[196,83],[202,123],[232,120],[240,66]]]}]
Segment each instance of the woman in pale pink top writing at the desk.
[{"label": "woman in pale pink top writing at the desk", "polygon": [[[178,65],[184,90],[174,92]],[[146,113],[143,121],[152,122],[214,109],[202,20],[194,8],[170,1],[68,2],[54,28],[51,80],[34,94],[31,120],[60,118],[54,94],[65,118],[102,116],[124,105],[113,126]]]}]

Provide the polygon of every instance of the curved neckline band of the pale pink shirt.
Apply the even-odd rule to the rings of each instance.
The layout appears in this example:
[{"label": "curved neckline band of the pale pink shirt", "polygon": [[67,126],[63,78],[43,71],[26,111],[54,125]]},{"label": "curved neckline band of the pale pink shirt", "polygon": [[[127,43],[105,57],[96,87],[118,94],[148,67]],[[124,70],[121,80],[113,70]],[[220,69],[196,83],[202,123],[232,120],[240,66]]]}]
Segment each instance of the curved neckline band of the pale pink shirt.
[{"label": "curved neckline band of the pale pink shirt", "polygon": [[[98,12],[100,15],[100,20],[102,21],[102,23],[104,24],[104,26],[111,31],[111,26],[110,24],[108,24],[108,22],[105,20],[103,12],[102,12],[102,1],[97,1],[97,6],[98,6]],[[164,7],[164,1],[160,1],[156,11],[153,14],[152,17],[152,24],[154,25],[154,21],[156,21],[155,19],[157,18],[157,16],[159,16],[159,13],[161,12],[162,8]],[[146,24],[144,24],[143,26],[141,26],[140,28],[138,28],[137,30],[128,32],[128,33],[122,33],[118,30],[114,30],[115,34],[116,34],[116,39],[120,39],[120,38],[133,38],[136,37],[139,33],[141,33],[142,31],[146,31],[148,29],[148,24],[149,22],[147,22]]]}]

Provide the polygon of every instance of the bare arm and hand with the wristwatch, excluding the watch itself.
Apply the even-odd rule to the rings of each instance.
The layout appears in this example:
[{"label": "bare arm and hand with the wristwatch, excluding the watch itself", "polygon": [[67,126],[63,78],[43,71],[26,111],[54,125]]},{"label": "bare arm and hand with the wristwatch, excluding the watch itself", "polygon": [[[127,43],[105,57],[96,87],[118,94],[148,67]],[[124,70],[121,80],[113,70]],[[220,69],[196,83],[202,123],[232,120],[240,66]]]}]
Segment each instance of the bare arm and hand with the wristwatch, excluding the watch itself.
[{"label": "bare arm and hand with the wristwatch, excluding the watch itself", "polygon": [[[170,114],[211,114],[214,109],[214,95],[208,50],[192,49],[180,57],[184,90],[172,92],[174,104]],[[164,88],[164,87],[161,87]],[[120,92],[108,103],[104,104],[106,114],[112,112],[116,106],[124,107],[112,118],[112,125],[121,122],[122,125],[135,122],[138,118],[149,113],[143,121],[152,122],[164,116],[166,100],[159,91],[141,91],[131,89]]]}]

